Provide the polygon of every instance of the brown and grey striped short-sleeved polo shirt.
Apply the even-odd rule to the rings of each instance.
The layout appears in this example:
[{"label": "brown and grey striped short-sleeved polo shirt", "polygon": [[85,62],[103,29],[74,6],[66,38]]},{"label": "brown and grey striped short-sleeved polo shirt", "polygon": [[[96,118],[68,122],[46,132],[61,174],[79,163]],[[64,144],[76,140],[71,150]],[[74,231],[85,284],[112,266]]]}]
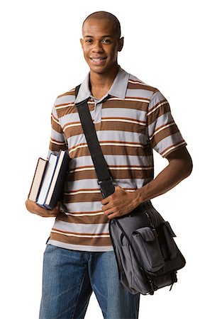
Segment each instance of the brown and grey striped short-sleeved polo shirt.
[{"label": "brown and grey striped short-sleeved polo shirt", "polygon": [[115,186],[125,191],[135,191],[153,179],[152,149],[166,157],[186,142],[160,91],[121,67],[102,99],[91,95],[89,74],[76,101],[74,93],[72,89],[58,96],[52,109],[50,152],[68,150],[71,160],[61,211],[48,244],[104,252],[113,250],[108,218],[101,211],[101,191],[74,103],[89,99],[89,110],[111,177]]}]

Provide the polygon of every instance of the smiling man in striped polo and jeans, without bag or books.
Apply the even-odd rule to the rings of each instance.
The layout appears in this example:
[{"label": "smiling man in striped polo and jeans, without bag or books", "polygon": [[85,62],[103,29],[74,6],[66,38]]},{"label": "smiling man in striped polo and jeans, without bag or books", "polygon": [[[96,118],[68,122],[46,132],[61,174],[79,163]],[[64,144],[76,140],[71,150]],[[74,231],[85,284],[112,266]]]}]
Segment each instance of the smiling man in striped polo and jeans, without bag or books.
[{"label": "smiling man in striped polo and jeans, without bag or books", "polygon": [[[138,318],[139,295],[118,281],[108,220],[164,194],[191,173],[186,142],[160,91],[118,65],[123,48],[118,19],[99,11],[86,18],[81,39],[90,72],[77,99],[74,89],[57,97],[52,110],[50,152],[67,149],[72,160],[63,200],[52,211],[31,201],[26,207],[56,216],[43,265],[40,319],[84,318],[94,291],[104,318]],[[89,109],[116,191],[102,200],[94,165],[74,103]],[[153,179],[152,149],[167,158]]]}]

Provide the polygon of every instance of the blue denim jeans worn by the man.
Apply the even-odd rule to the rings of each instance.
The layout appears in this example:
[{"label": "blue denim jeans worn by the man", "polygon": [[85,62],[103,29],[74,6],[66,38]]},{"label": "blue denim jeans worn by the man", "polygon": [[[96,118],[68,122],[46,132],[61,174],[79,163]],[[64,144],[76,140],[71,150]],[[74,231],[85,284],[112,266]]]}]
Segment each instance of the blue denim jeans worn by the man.
[{"label": "blue denim jeans worn by the man", "polygon": [[92,291],[104,318],[138,318],[140,295],[132,295],[120,283],[113,251],[80,252],[47,245],[39,318],[84,318]]}]

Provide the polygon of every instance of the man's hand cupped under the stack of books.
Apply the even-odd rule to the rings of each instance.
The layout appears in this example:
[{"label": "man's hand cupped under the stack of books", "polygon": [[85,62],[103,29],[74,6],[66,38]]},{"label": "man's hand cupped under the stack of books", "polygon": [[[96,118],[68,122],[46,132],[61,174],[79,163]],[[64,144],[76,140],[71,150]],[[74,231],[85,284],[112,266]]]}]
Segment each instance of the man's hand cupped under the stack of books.
[{"label": "man's hand cupped under the stack of books", "polygon": [[30,213],[33,213],[41,217],[56,217],[57,214],[60,212],[60,203],[57,203],[57,205],[53,209],[45,209],[36,204],[34,201],[30,201],[29,199],[27,199],[25,205],[26,209]]}]

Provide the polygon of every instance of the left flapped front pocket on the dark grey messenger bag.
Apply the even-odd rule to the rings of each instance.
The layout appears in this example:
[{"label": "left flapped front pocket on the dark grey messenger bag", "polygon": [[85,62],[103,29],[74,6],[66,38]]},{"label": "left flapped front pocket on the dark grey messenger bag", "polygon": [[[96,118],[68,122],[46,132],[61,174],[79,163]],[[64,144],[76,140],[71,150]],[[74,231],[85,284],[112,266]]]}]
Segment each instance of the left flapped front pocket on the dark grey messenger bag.
[{"label": "left flapped front pocket on the dark grey messenger bag", "polygon": [[164,266],[164,259],[155,230],[149,227],[135,230],[132,244],[138,261],[147,272],[157,272]]}]

